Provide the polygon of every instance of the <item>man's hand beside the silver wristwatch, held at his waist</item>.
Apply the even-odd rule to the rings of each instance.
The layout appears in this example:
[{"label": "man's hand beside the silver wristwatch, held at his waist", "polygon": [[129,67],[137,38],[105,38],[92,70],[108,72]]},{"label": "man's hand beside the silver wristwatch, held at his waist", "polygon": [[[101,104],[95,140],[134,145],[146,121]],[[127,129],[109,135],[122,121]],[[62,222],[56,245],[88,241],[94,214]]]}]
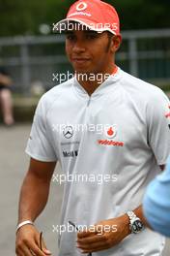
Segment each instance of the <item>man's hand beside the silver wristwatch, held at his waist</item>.
[{"label": "man's hand beside the silver wristwatch, held at his waist", "polygon": [[129,235],[128,215],[99,221],[95,226],[95,231],[79,232],[77,234],[77,248],[82,253],[90,253],[109,249],[117,245]]}]

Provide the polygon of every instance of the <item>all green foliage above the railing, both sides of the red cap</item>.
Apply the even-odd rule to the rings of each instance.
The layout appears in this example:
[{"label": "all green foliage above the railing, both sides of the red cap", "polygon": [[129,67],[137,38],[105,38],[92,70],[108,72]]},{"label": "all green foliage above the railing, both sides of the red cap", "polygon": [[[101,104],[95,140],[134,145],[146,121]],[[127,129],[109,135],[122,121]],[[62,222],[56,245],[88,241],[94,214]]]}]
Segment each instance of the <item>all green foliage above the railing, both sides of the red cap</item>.
[{"label": "all green foliage above the railing, both sides of the red cap", "polygon": [[[93,0],[92,0],[93,1]],[[39,26],[64,18],[73,0],[0,0],[0,36],[40,34]],[[122,30],[170,27],[169,0],[106,0],[117,9]]]}]

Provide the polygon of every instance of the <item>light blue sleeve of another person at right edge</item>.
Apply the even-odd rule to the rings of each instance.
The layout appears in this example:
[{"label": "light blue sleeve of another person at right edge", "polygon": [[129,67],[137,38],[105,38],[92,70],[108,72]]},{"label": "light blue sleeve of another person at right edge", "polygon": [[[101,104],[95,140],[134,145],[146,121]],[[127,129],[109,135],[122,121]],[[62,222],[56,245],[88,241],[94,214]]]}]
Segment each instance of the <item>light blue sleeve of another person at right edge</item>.
[{"label": "light blue sleeve of another person at right edge", "polygon": [[170,237],[170,158],[166,170],[149,184],[144,196],[143,210],[151,227]]}]

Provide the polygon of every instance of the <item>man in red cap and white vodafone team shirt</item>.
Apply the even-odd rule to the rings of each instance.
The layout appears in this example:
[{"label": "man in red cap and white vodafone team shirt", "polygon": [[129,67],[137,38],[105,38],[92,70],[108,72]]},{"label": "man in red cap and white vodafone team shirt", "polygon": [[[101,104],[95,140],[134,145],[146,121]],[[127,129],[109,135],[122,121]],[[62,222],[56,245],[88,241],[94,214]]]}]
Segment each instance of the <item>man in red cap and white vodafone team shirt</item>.
[{"label": "man in red cap and white vodafone team shirt", "polygon": [[164,238],[144,228],[141,203],[170,152],[169,101],[159,88],[115,65],[122,38],[112,6],[77,1],[54,29],[66,32],[75,76],[45,93],[35,113],[16,254],[50,254],[40,248],[34,221],[45,207],[59,161],[64,174],[73,177],[65,184],[61,225],[87,227],[59,234],[60,256],[161,255]]}]

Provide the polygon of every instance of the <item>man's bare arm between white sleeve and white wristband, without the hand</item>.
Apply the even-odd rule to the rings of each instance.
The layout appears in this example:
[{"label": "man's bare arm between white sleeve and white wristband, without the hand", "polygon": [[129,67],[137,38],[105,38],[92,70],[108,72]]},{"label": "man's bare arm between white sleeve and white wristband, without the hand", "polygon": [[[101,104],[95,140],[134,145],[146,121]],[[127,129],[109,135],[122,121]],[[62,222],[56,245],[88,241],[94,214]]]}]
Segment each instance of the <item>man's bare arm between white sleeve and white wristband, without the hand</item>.
[{"label": "man's bare arm between white sleeve and white wristband, without the hand", "polygon": [[51,176],[56,163],[31,159],[24,178],[19,200],[18,223],[26,219],[35,221],[45,207]]}]

